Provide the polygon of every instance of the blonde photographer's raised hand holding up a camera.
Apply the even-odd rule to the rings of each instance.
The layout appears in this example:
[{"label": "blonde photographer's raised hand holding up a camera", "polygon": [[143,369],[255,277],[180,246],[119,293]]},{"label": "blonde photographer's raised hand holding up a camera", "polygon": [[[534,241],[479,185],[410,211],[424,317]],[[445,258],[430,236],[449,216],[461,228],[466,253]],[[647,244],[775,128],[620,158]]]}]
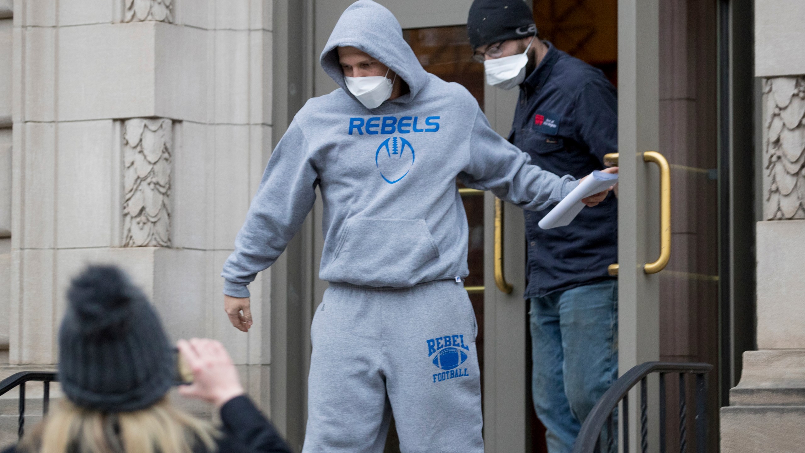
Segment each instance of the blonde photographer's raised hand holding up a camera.
[{"label": "blonde photographer's raised hand holding up a camera", "polygon": [[193,372],[193,383],[179,386],[183,396],[209,401],[220,408],[226,401],[243,394],[237,369],[221,343],[192,339],[179,340],[176,346]]}]

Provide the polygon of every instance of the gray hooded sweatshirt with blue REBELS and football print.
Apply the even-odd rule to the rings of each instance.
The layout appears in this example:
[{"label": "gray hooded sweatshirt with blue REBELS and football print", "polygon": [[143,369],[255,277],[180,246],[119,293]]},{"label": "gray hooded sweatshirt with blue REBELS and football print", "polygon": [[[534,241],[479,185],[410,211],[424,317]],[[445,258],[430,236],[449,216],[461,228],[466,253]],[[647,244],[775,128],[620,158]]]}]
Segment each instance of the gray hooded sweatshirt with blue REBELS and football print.
[{"label": "gray hooded sweatshirt with blue REBELS and football print", "polygon": [[[349,92],[336,48],[352,46],[386,64],[410,92],[365,108]],[[489,127],[467,89],[426,73],[397,19],[371,0],[349,6],[320,63],[341,85],[312,98],[277,144],[235,250],[224,293],[274,264],[316,200],[324,202],[324,281],[410,287],[467,276],[467,218],[456,177],[526,210],[558,202],[578,184],[530,164]]]}]

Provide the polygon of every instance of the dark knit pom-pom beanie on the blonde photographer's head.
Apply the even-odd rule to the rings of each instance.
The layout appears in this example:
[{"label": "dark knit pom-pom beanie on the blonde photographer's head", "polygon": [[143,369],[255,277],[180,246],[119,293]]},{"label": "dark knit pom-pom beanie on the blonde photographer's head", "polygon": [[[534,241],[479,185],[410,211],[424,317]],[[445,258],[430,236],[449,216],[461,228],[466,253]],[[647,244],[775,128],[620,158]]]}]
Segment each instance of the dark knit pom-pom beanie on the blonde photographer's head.
[{"label": "dark knit pom-pom beanie on the blonde photographer's head", "polygon": [[145,409],[174,382],[173,351],[144,293],[114,266],[72,280],[59,330],[59,380],[76,405]]}]

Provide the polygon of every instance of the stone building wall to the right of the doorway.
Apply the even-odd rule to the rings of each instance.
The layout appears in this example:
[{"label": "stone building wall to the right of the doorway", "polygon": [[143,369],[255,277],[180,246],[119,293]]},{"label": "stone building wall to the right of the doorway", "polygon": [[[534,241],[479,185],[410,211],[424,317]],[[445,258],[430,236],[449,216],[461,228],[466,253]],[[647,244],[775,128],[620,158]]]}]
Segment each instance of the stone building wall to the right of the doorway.
[{"label": "stone building wall to the right of the doorway", "polygon": [[721,451],[805,445],[805,2],[755,1],[762,84],[757,346],[721,409]]}]

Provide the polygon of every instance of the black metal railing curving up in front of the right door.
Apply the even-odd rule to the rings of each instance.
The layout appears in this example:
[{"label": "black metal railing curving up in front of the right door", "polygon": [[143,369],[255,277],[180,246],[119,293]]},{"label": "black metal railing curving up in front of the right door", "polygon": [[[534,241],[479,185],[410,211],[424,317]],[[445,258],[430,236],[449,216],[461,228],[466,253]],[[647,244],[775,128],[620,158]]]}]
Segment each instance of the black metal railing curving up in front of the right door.
[{"label": "black metal railing curving up in front of the right door", "polygon": [[[613,453],[617,439],[617,425],[623,433],[623,453],[629,453],[629,391],[640,384],[640,450],[646,453],[649,447],[648,436],[648,381],[651,373],[659,373],[659,451],[666,452],[666,375],[679,377],[679,451],[687,451],[687,395],[685,376],[696,376],[696,452],[704,453],[707,445],[707,373],[710,364],[678,364],[673,362],[646,362],[625,372],[612,387],[598,400],[595,407],[581,426],[573,453],[593,453],[603,451]],[[617,411],[618,403],[621,410]],[[619,414],[617,417],[616,414]],[[620,418],[620,420],[617,420]],[[606,433],[602,430],[606,424]],[[602,442],[603,438],[603,442]],[[604,443],[605,445],[602,445]]]}]

